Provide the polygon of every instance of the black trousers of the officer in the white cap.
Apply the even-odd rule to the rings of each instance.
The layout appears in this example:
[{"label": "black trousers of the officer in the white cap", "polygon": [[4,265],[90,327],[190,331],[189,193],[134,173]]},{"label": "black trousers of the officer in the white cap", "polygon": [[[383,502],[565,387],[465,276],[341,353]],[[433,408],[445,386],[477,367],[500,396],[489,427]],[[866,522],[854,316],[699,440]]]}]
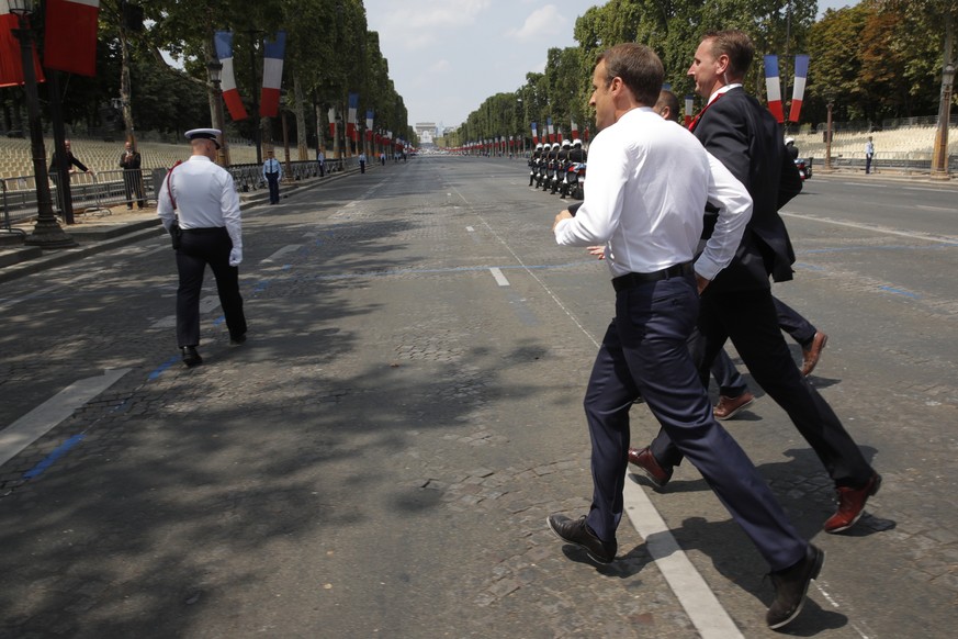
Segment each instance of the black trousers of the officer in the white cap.
[{"label": "black trousers of the officer in the white cap", "polygon": [[229,337],[246,333],[243,298],[239,294],[239,269],[229,266],[233,240],[226,228],[187,228],[177,249],[177,341],[179,347],[200,345],[200,292],[206,265],[216,278],[219,305],[226,316]]}]

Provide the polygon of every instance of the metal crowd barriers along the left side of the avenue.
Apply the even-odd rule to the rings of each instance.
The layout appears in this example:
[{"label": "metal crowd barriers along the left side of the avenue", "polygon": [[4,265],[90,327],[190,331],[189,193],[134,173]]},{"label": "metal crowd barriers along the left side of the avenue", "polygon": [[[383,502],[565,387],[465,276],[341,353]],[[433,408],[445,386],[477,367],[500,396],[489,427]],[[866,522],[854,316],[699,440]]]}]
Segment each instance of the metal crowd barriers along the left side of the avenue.
[{"label": "metal crowd barriers along the left side of the avenue", "polygon": [[[283,166],[284,181],[301,181],[319,177],[319,165],[314,160],[291,161],[289,170]],[[343,171],[351,166],[358,166],[354,158],[327,159],[326,173]],[[74,215],[109,215],[112,206],[127,208],[156,204],[157,188],[169,169],[153,168],[142,170],[109,170],[97,173],[74,173],[70,177],[70,195],[74,203]],[[267,188],[262,177],[262,166],[234,165],[229,167],[236,190],[248,193]],[[57,177],[50,176],[50,199],[57,216],[63,220],[63,203],[57,188]],[[0,228],[11,229],[14,224],[30,222],[36,218],[36,180],[33,176],[15,176],[0,178]]]}]

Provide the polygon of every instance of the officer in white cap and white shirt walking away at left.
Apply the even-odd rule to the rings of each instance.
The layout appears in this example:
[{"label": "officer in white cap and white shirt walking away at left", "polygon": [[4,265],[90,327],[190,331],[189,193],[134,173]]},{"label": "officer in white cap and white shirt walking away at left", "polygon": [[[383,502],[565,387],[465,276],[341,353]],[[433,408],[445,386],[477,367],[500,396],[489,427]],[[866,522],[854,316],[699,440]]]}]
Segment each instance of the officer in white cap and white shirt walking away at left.
[{"label": "officer in white cap and white shirt walking away at left", "polygon": [[216,278],[230,344],[246,341],[246,316],[236,268],[243,261],[239,195],[233,176],[213,161],[219,149],[218,136],[216,128],[187,132],[193,155],[167,173],[157,204],[157,214],[166,229],[174,222],[182,229],[177,249],[180,276],[177,343],[188,367],[203,363],[196,347],[200,345],[200,292],[206,265]]}]

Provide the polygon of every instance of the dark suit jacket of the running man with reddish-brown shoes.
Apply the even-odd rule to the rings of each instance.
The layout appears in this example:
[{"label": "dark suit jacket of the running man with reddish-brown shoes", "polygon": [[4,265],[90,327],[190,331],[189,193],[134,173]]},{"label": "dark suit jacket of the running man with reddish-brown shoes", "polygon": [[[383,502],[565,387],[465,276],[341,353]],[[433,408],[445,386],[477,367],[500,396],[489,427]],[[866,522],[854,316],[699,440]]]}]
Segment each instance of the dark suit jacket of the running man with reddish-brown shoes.
[{"label": "dark suit jacket of the running man with reddish-brown shoes", "polygon": [[776,282],[792,279],[794,251],[778,210],[801,191],[802,181],[778,123],[739,87],[702,112],[694,133],[745,184],[754,201],[735,258],[708,290],[767,289],[769,274]]}]

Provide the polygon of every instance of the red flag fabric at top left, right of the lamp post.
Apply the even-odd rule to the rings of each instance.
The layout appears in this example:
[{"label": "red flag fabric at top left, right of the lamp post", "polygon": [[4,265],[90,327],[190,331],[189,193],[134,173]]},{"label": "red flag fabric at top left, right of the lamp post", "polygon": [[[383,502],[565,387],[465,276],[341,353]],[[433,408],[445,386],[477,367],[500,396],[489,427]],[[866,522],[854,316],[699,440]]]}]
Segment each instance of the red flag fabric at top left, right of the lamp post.
[{"label": "red flag fabric at top left, right of the lamp post", "polygon": [[99,13],[100,0],[47,0],[44,66],[95,76]]}]

